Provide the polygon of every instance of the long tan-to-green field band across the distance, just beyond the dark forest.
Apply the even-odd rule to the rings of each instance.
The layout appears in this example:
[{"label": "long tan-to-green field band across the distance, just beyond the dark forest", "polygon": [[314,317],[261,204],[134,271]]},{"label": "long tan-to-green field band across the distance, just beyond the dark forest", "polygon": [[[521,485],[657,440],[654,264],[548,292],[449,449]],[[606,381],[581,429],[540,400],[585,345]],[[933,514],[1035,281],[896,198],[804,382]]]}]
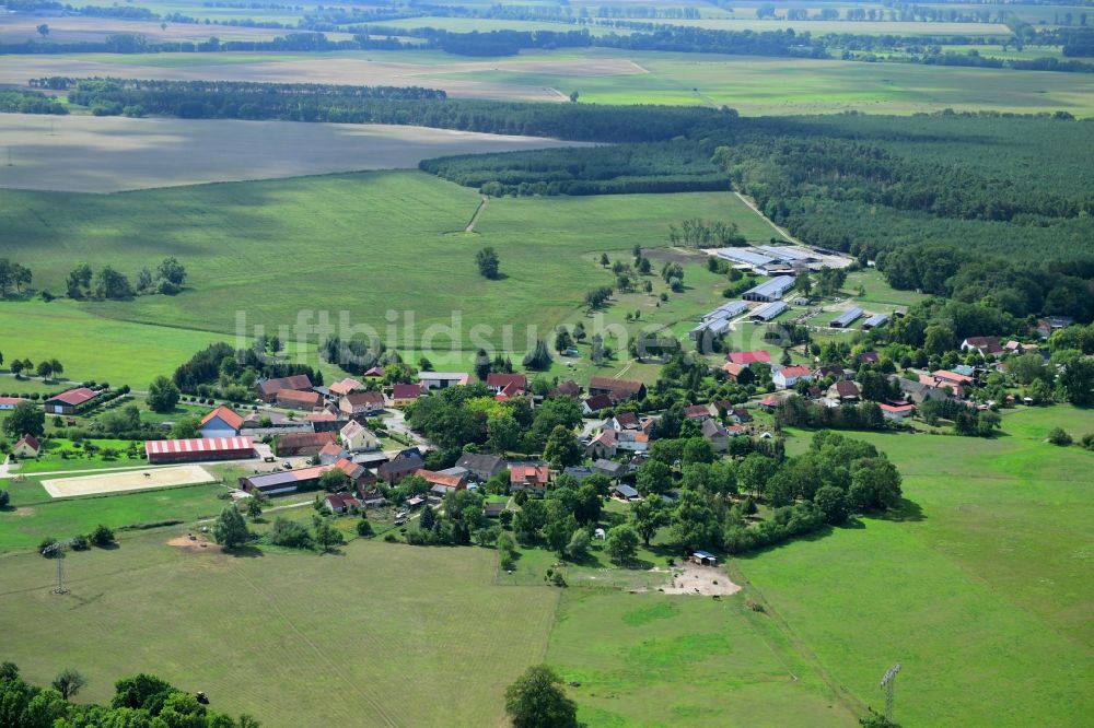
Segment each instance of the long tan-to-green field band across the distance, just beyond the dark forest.
[{"label": "long tan-to-green field band across the distance, just beyond the dark forest", "polygon": [[371,50],[0,58],[0,83],[24,84],[43,75],[412,83],[453,96],[536,101],[563,101],[578,91],[585,103],[728,105],[749,116],[849,109],[915,114],[947,107],[1094,115],[1094,79],[1087,73],[597,48],[474,60],[438,51]]}]

